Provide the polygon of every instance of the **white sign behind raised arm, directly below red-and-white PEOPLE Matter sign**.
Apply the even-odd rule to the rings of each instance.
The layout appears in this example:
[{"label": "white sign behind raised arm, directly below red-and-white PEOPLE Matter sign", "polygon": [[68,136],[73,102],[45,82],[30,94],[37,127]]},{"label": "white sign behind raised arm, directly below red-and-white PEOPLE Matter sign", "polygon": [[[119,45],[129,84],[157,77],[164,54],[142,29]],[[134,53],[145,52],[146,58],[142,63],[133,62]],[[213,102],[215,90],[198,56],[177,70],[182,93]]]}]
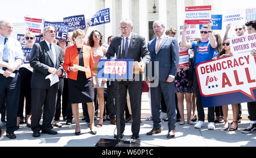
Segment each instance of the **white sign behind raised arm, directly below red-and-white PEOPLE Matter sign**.
[{"label": "white sign behind raised arm, directly below red-and-white PEOPLE Matter sign", "polygon": [[[179,32],[177,33],[178,41],[181,41],[182,34],[183,34],[183,25],[179,27]],[[196,38],[196,37],[199,37],[198,34],[199,34],[199,25],[195,25],[195,24],[188,25],[188,28],[186,29],[186,32],[185,32],[186,38],[188,39]]]}]

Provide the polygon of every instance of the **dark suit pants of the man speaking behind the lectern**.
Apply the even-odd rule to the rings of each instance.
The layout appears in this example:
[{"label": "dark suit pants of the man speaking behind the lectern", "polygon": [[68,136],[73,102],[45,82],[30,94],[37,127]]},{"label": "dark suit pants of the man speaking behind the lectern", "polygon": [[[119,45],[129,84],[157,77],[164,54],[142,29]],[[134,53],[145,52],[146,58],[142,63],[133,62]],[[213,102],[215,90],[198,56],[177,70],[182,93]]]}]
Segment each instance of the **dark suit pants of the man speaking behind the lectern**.
[{"label": "dark suit pants of the man speaking behind the lectern", "polygon": [[[139,134],[141,128],[141,95],[142,95],[142,81],[121,81],[119,85],[119,107],[120,107],[120,132],[125,130],[125,119],[123,118],[125,113],[127,89],[130,95],[131,113],[133,114],[133,123],[131,124],[131,132],[133,134]],[[117,104],[115,104],[117,105]],[[116,115],[117,110],[116,110]]]}]

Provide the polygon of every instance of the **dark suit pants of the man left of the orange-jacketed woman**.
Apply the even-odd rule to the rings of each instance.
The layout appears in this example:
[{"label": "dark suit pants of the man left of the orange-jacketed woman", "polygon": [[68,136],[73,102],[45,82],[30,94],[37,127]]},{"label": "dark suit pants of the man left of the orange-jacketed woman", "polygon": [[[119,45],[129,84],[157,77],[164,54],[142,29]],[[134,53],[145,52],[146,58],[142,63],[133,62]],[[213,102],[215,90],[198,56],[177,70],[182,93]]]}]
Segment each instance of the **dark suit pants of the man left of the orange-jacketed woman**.
[{"label": "dark suit pants of the man left of the orange-jacketed woman", "polygon": [[[32,116],[31,129],[32,131],[40,131],[41,129],[50,129],[51,122],[55,114],[57,91],[59,83],[53,84],[48,89],[32,88]],[[40,125],[42,117],[42,106],[44,105],[43,124]]]}]

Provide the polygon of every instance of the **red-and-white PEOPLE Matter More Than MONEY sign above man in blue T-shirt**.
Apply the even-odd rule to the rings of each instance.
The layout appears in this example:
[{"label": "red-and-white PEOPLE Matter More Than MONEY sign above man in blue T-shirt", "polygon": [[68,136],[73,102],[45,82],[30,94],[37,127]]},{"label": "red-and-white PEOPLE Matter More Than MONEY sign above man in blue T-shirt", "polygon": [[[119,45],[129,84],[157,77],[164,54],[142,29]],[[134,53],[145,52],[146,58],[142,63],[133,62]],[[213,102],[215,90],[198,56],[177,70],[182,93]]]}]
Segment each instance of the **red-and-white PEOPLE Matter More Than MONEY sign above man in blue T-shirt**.
[{"label": "red-and-white PEOPLE Matter More Than MONEY sign above man in blue T-shirt", "polygon": [[212,16],[212,6],[185,7],[186,24],[208,24]]}]

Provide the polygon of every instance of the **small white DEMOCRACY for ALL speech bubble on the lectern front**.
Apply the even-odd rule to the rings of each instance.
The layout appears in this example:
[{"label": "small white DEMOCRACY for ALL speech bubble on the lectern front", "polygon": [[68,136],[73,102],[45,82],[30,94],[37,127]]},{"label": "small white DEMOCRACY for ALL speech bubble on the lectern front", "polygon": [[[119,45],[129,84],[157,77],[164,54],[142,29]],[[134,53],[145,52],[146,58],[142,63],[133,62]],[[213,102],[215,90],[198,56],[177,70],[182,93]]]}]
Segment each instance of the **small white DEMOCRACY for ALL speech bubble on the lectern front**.
[{"label": "small white DEMOCRACY for ALL speech bubble on the lectern front", "polygon": [[104,74],[118,74],[122,77],[126,74],[127,62],[126,61],[106,61],[104,63]]}]

